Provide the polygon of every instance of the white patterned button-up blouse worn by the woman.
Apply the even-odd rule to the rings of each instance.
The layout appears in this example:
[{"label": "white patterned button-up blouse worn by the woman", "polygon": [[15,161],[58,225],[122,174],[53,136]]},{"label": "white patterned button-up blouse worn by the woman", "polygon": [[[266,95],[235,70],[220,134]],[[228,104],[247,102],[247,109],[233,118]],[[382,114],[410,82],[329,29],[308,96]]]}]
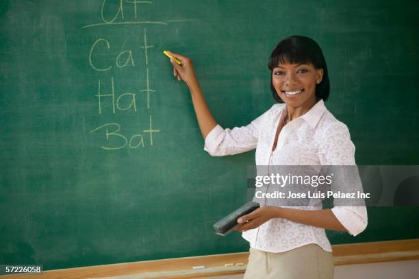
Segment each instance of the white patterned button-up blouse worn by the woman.
[{"label": "white patterned button-up blouse worn by the woman", "polygon": [[[322,100],[307,113],[285,125],[272,151],[279,121],[285,117],[285,104],[275,104],[244,127],[216,127],[205,138],[205,151],[212,156],[239,154],[256,149],[256,165],[355,165],[355,146],[348,128],[333,117]],[[285,113],[284,113],[285,112]],[[322,204],[306,210],[322,209]],[[335,217],[353,236],[365,230],[365,206],[334,206]],[[288,219],[274,218],[242,233],[251,247],[266,252],[285,252],[309,243],[331,251],[325,229]]]}]

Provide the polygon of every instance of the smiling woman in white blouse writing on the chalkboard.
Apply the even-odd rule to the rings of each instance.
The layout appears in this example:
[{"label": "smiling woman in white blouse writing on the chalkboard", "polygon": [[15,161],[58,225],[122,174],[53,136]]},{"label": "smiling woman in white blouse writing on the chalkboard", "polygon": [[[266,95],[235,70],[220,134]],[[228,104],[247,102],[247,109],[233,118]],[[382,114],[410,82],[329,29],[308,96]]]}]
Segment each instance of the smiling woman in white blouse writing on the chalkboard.
[{"label": "smiling woman in white blouse writing on the chalkboard", "polygon": [[[333,117],[327,65],[311,38],[291,36],[272,51],[270,87],[279,102],[241,128],[223,129],[207,107],[192,61],[177,53],[173,75],[192,95],[205,150],[212,156],[256,148],[256,165],[355,165],[355,147],[344,123]],[[309,210],[262,206],[238,219],[236,229],[250,242],[244,278],[333,278],[331,245],[325,229],[353,236],[367,225],[364,206]]]}]

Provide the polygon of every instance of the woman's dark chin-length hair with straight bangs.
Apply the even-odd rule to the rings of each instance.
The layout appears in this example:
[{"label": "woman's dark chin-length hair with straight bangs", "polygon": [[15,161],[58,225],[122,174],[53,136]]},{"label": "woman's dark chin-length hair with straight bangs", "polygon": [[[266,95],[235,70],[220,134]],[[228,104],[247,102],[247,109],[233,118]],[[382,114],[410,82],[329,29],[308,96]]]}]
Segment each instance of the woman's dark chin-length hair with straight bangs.
[{"label": "woman's dark chin-length hair with straight bangs", "polygon": [[316,84],[316,98],[326,101],[329,97],[330,83],[327,64],[322,49],[316,41],[305,36],[290,36],[279,42],[277,47],[270,54],[268,68],[270,69],[270,90],[279,103],[283,103],[272,84],[272,71],[279,63],[291,64],[311,63],[316,69],[323,69],[323,77],[320,84]]}]

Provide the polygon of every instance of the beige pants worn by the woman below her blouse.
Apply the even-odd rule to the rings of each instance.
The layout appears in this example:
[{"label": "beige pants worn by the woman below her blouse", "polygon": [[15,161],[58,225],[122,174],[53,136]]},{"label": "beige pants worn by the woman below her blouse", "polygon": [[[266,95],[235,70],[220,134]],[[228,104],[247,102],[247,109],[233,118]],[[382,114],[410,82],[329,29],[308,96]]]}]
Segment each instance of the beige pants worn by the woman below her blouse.
[{"label": "beige pants worn by the woman below her blouse", "polygon": [[243,279],[332,279],[333,274],[332,253],[309,244],[281,253],[251,248]]}]

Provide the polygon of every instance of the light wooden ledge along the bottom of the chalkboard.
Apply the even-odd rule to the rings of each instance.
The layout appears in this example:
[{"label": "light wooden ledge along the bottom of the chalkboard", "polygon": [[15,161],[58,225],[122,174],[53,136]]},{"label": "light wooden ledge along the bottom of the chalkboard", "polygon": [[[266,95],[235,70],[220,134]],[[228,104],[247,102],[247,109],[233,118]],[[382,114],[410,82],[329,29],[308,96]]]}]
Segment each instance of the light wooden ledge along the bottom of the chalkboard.
[{"label": "light wooden ledge along the bottom of the chalkboard", "polygon": [[[248,252],[45,271],[36,278],[205,278],[243,274]],[[333,245],[335,265],[419,259],[419,239]],[[229,266],[225,266],[229,264]],[[232,264],[232,265],[231,265]],[[192,267],[205,266],[203,269]],[[131,275],[131,276],[130,276]],[[13,278],[20,278],[13,276]],[[122,277],[123,278],[123,277]]]}]

